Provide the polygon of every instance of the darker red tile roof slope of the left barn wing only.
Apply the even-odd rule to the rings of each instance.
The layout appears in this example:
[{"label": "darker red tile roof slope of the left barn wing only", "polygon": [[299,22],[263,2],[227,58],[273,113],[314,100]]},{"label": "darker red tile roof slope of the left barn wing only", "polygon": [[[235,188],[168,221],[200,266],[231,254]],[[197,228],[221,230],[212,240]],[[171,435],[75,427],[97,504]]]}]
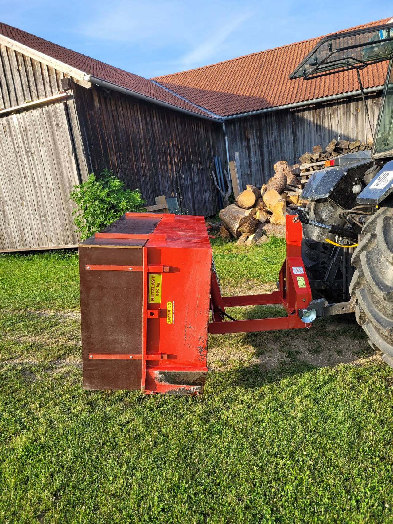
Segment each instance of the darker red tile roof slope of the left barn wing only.
[{"label": "darker red tile roof slope of the left barn wing only", "polygon": [[4,35],[16,42],[30,47],[31,49],[47,54],[49,57],[64,62],[74,69],[79,69],[85,74],[94,75],[95,77],[99,77],[107,82],[121,85],[124,88],[136,91],[146,96],[151,96],[161,102],[181,107],[199,115],[211,116],[209,112],[204,111],[202,108],[195,107],[195,105],[186,100],[182,100],[180,96],[170,93],[151,80],[139,77],[133,73],[128,73],[123,69],[113,67],[113,65],[108,65],[100,60],[87,57],[77,51],[58,46],[56,43],[31,35],[30,33],[17,29],[16,27],[11,27],[0,22],[0,35]]}]

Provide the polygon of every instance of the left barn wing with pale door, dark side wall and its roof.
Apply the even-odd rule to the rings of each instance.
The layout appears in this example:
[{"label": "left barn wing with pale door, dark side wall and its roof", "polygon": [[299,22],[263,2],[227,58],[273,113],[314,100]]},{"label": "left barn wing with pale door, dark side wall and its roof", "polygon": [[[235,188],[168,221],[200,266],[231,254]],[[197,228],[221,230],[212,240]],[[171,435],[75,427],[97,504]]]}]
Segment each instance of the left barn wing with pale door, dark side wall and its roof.
[{"label": "left barn wing with pale door, dark side wall and its roof", "polygon": [[112,169],[147,204],[211,215],[220,118],[156,83],[0,24],[0,251],[75,246],[69,193]]}]

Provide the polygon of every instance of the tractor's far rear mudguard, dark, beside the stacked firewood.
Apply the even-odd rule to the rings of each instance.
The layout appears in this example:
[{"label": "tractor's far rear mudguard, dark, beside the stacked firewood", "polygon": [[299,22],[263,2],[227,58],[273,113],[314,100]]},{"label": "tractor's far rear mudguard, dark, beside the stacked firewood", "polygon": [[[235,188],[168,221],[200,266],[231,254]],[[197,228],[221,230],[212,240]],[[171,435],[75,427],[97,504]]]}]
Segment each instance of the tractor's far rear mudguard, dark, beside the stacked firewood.
[{"label": "tractor's far rear mudguard, dark, beside the stacked firewood", "polygon": [[373,160],[368,157],[314,171],[305,184],[302,198],[310,202],[329,198],[342,209],[352,209],[356,205],[356,194],[352,188],[359,180],[363,180],[364,173],[372,165]]}]

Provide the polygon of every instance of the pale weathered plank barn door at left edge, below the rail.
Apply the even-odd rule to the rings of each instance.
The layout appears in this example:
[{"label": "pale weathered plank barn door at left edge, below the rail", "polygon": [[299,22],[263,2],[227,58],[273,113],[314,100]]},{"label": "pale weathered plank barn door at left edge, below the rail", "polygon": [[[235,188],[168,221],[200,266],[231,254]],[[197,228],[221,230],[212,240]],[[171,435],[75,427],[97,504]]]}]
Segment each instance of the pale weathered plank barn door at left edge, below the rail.
[{"label": "pale weathered plank barn door at left edge, below the rail", "polygon": [[78,244],[77,162],[66,103],[0,118],[0,250]]}]

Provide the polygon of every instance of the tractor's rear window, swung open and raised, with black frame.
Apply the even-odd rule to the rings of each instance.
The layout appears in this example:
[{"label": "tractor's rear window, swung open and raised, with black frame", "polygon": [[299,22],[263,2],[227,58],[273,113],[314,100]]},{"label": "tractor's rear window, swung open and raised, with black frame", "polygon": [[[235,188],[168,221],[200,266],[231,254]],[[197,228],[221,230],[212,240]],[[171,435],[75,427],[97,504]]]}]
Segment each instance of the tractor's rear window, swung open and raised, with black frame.
[{"label": "tractor's rear window, swung open and raised, with black frame", "polygon": [[326,74],[363,69],[393,57],[393,24],[358,29],[323,38],[289,78],[317,78]]}]

